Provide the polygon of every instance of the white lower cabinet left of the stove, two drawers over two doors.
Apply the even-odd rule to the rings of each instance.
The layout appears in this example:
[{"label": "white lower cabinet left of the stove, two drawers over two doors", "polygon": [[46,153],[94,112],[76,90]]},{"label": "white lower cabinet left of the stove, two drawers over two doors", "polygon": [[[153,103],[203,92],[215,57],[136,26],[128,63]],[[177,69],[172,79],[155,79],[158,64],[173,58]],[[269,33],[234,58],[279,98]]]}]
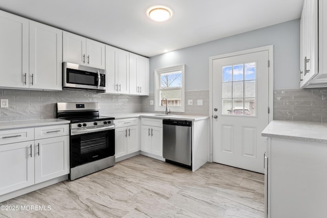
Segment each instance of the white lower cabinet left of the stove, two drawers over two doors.
[{"label": "white lower cabinet left of the stove, two drawers over two doors", "polygon": [[0,196],[69,174],[68,130],[56,125],[0,131]]}]

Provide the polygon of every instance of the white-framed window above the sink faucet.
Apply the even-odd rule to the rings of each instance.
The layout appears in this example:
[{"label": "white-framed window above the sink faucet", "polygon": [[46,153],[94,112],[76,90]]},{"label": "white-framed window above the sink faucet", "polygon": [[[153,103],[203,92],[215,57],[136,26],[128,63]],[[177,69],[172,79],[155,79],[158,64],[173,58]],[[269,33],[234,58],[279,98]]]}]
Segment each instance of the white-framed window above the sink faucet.
[{"label": "white-framed window above the sink faucet", "polygon": [[[155,70],[154,110],[184,112],[184,65]],[[166,101],[167,99],[167,101]]]}]

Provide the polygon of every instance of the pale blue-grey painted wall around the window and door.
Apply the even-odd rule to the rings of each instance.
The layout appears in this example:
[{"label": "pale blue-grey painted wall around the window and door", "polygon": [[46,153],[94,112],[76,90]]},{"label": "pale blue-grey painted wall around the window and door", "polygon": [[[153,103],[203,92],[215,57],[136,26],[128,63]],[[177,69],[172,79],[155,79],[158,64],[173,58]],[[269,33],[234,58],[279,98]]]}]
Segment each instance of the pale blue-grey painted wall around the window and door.
[{"label": "pale blue-grey painted wall around the window and door", "polygon": [[274,89],[299,88],[299,19],[186,47],[150,58],[150,92],[154,70],[185,64],[185,91],[209,89],[209,57],[266,45],[274,46]]}]

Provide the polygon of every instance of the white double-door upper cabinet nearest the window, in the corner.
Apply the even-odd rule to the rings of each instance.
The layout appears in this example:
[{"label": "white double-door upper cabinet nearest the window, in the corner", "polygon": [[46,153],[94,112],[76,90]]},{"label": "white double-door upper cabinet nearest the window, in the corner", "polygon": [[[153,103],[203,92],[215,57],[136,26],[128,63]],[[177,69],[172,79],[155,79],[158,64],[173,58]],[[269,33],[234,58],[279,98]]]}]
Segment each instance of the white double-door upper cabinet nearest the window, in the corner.
[{"label": "white double-door upper cabinet nearest the window, in the corner", "polygon": [[129,53],[129,92],[149,95],[149,58]]}]

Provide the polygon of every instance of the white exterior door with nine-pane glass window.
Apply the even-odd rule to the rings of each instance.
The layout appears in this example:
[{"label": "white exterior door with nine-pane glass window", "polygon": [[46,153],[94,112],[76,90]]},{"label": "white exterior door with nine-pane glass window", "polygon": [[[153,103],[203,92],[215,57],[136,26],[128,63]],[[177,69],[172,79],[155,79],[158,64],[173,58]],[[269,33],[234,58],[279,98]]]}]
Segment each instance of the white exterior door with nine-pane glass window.
[{"label": "white exterior door with nine-pane glass window", "polygon": [[213,160],[264,173],[269,52],[213,59]]}]

